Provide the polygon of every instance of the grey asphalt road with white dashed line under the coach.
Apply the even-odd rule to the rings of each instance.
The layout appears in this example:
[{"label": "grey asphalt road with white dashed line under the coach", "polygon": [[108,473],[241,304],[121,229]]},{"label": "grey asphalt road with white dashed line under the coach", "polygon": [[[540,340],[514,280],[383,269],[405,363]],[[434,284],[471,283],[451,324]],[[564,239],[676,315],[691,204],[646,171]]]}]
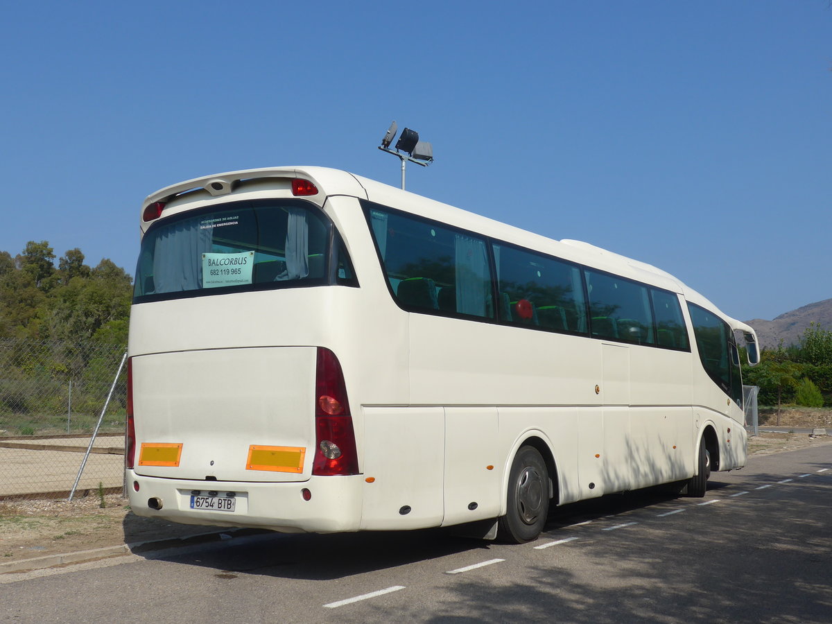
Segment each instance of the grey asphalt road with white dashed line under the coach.
[{"label": "grey asphalt road with white dashed line under the coach", "polygon": [[832,621],[832,445],[750,458],[706,498],[552,513],[536,542],[267,535],[0,579],[2,622]]}]

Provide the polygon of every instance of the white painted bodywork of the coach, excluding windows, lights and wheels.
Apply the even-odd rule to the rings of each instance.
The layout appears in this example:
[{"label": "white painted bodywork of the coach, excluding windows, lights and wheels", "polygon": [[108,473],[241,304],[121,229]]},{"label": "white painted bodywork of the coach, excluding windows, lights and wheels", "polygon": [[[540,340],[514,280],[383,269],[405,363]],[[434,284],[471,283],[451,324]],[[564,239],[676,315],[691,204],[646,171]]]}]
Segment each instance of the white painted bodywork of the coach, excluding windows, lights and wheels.
[{"label": "white painted bodywork of the coach, excluding windows, lights and wheels", "polygon": [[[714,306],[672,276],[341,171],[220,175],[228,181],[258,176],[266,179],[245,182],[245,191],[230,196],[197,190],[176,197],[170,214],[289,197],[291,177],[310,179],[322,191],[310,201],[323,206],[342,235],[360,288],[133,306],[137,445],[183,444],[179,467],[128,471],[128,483],[140,486],[139,493],[129,488],[136,513],[160,515],[147,508],[148,498],[159,497],[161,515],[177,522],[320,532],[495,518],[506,511],[513,455],[529,438],[542,440],[551,454],[556,503],[690,477],[706,427],[716,432],[721,469],[745,463],[742,411],[701,368],[696,344],[682,352],[405,312],[390,296],[358,200],[676,292],[692,340],[681,295]],[[200,189],[215,177],[168,187],[146,203]],[[359,475],[310,474],[316,347],[332,349],[342,365]],[[305,448],[303,472],[245,468],[251,444]],[[216,477],[216,485],[206,476]],[[188,508],[191,490],[208,488],[237,493],[235,513]],[[302,488],[312,492],[310,501]]]}]

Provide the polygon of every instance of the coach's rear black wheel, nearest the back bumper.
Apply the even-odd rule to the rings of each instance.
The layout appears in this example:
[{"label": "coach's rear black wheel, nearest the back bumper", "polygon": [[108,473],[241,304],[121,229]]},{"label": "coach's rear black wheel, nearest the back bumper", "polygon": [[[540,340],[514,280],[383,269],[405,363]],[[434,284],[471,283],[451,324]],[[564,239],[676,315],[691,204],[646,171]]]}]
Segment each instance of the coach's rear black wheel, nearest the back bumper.
[{"label": "coach's rear black wheel, nearest the back bumper", "polygon": [[537,448],[520,448],[508,475],[506,515],[499,518],[498,539],[522,544],[536,539],[549,511],[549,471]]}]

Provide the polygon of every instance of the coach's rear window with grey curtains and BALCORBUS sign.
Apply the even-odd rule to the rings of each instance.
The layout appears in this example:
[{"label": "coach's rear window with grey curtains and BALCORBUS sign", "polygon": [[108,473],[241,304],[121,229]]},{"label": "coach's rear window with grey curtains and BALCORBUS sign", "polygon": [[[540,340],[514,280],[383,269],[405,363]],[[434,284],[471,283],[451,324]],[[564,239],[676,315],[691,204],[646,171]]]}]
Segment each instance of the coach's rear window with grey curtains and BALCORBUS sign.
[{"label": "coach's rear window with grey curtains and BALCORBUS sign", "polygon": [[141,241],[134,301],[349,283],[343,245],[329,262],[332,225],[304,201],[212,206],[161,220]]}]

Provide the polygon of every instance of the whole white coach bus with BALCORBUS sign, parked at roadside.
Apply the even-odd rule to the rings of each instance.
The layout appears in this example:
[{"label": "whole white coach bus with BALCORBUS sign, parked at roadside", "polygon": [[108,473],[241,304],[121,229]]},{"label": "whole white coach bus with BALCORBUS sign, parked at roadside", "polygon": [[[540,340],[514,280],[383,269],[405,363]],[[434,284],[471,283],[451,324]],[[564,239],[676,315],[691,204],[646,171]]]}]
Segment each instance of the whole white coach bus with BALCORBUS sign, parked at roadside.
[{"label": "whole white coach bus with BALCORBUS sign, parked at roadside", "polygon": [[141,234],[139,515],[525,542],[552,504],[745,464],[754,330],[650,265],[318,167],[169,186]]}]

